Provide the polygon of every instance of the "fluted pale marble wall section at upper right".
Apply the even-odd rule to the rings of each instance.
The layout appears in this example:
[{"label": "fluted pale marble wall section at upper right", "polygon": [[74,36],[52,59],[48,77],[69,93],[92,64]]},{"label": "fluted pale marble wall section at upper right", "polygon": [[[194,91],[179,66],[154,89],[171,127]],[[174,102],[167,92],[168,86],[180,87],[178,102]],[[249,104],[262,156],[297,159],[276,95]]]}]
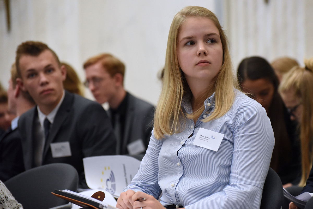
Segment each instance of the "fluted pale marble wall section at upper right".
[{"label": "fluted pale marble wall section at upper right", "polygon": [[233,64],[237,69],[247,56],[269,61],[290,56],[303,65],[313,57],[312,0],[224,0]]}]

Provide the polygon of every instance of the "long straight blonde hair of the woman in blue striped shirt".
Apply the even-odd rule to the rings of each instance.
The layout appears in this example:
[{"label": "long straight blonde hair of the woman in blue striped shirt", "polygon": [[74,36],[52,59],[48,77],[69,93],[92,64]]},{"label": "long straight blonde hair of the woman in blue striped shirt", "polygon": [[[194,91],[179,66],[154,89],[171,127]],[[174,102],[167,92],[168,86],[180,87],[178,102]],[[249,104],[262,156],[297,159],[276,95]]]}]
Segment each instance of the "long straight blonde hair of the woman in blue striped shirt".
[{"label": "long straight blonde hair of the woman in blue striped shirt", "polygon": [[228,50],[228,39],[218,22],[218,18],[210,10],[203,7],[188,6],[183,8],[175,15],[168,34],[163,85],[154,118],[154,135],[156,139],[162,139],[164,135],[172,135],[182,131],[180,124],[185,122],[186,117],[196,119],[204,110],[204,105],[201,105],[193,114],[180,117],[180,115],[183,115],[181,108],[182,97],[190,89],[178,64],[177,39],[182,24],[189,17],[211,19],[219,30],[223,47],[221,69],[214,78],[212,87],[204,92],[203,97],[198,100],[198,102],[204,102],[210,96],[212,90],[215,91],[215,108],[209,117],[203,119],[203,122],[223,116],[233,105],[234,88],[239,89]]}]

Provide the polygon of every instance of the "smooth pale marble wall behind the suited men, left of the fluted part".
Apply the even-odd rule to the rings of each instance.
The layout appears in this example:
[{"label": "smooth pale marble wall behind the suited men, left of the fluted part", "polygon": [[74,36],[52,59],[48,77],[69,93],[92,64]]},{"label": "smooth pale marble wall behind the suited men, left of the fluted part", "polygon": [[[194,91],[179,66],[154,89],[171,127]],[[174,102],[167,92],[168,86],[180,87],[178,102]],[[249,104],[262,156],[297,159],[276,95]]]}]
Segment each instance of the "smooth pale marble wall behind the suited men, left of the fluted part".
[{"label": "smooth pale marble wall behind the suited men, left of the fluted part", "polygon": [[[125,88],[156,104],[167,36],[174,15],[197,5],[216,10],[214,0],[10,0],[11,31],[0,1],[0,77],[8,86],[15,50],[26,40],[47,43],[60,60],[71,64],[82,81],[82,63],[109,52],[126,64]],[[219,10],[220,11],[220,10]],[[89,90],[87,97],[92,98]]]}]

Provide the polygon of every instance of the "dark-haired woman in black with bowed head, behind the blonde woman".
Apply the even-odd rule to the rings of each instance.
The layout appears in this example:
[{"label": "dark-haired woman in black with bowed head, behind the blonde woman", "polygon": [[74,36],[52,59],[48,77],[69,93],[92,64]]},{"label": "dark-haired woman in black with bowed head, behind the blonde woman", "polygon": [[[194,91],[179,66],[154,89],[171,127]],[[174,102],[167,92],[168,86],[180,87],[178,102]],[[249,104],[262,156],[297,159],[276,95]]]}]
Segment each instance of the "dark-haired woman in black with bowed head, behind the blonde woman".
[{"label": "dark-haired woman in black with bowed head, behind the blonde woman", "polygon": [[284,187],[300,180],[300,145],[296,124],[290,120],[288,111],[278,93],[278,79],[271,65],[261,57],[249,57],[241,61],[237,72],[241,89],[258,101],[266,110],[275,136],[270,167],[273,168]]}]

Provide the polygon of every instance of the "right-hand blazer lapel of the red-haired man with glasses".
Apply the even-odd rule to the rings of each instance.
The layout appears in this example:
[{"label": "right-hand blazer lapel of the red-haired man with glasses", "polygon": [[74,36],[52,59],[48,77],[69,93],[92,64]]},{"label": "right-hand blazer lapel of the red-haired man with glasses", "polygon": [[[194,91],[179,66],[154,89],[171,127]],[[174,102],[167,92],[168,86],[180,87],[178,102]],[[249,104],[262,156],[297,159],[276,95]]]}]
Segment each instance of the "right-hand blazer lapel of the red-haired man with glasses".
[{"label": "right-hand blazer lapel of the red-haired man with glasses", "polygon": [[127,144],[128,139],[130,139],[130,133],[131,133],[131,125],[134,121],[132,119],[134,118],[134,97],[129,94],[128,95],[128,101],[127,101],[127,109],[126,109],[126,119],[125,119],[125,127],[124,127],[124,136],[123,136],[123,142],[122,142],[122,152],[127,150]]}]

